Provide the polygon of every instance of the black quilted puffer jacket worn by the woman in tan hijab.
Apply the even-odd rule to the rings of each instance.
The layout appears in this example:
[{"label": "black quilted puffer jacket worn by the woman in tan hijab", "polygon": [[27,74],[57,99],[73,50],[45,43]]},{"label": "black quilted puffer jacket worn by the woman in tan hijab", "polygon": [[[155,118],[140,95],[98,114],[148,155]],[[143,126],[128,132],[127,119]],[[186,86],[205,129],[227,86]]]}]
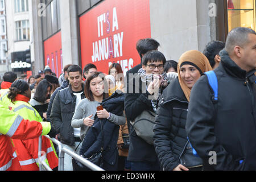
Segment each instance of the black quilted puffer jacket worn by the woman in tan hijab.
[{"label": "black quilted puffer jacket worn by the woman in tan hijab", "polygon": [[[187,139],[185,123],[188,112],[188,101],[180,87],[179,79],[175,78],[170,85],[164,89],[160,98],[154,126],[154,146],[161,167],[170,171],[177,167],[180,158],[187,154],[191,146]],[[192,154],[192,151],[191,151]],[[192,155],[189,160],[195,159]],[[199,160],[200,159],[195,159]],[[191,162],[191,161],[189,161]],[[187,166],[188,161],[183,161]]]}]

